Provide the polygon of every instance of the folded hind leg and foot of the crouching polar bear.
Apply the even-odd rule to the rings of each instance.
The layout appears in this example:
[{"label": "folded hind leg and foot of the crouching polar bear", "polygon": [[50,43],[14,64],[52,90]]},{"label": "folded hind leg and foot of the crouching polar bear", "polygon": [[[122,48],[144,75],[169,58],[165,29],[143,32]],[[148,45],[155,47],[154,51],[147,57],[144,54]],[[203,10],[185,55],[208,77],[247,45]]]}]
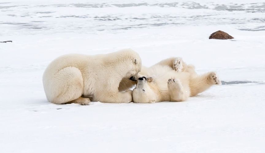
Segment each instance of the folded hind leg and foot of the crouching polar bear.
[{"label": "folded hind leg and foot of the crouching polar bear", "polygon": [[56,73],[50,90],[49,93],[52,93],[50,102],[52,103],[88,105],[90,102],[89,99],[81,97],[83,94],[83,77],[76,67],[66,67]]}]

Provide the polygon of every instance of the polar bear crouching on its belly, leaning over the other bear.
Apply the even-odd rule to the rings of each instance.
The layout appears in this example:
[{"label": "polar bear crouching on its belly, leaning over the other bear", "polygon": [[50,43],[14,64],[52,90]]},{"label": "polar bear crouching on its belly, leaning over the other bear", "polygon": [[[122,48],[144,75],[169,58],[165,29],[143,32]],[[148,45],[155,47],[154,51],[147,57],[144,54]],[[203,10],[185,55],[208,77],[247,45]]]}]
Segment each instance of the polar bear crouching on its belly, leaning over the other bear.
[{"label": "polar bear crouching on its belly, leaning over the other bear", "polygon": [[[45,69],[44,91],[48,101],[55,104],[88,105],[92,100],[129,103],[132,91],[128,89],[134,83],[127,82],[137,80],[141,66],[139,54],[131,49],[109,54],[63,55]],[[119,86],[127,91],[119,91]]]}]

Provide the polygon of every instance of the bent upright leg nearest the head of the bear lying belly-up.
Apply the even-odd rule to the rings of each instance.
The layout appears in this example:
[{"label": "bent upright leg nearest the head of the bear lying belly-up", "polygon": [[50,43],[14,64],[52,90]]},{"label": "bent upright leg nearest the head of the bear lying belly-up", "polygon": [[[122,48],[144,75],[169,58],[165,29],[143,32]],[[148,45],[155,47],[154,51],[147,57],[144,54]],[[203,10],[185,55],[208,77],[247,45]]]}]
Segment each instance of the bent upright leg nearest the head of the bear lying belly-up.
[{"label": "bent upright leg nearest the head of the bear lying belly-up", "polygon": [[186,101],[190,96],[187,86],[182,86],[179,79],[169,79],[167,81],[167,88],[170,94],[171,102]]}]

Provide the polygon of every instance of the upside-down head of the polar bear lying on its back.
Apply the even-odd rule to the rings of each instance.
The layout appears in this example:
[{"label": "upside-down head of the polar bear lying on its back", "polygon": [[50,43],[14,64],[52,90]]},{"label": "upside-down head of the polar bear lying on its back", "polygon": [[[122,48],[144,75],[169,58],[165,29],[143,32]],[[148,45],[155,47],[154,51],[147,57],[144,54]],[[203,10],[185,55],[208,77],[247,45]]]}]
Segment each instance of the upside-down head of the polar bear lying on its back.
[{"label": "upside-down head of the polar bear lying on its back", "polygon": [[140,77],[138,83],[132,91],[134,103],[155,103],[158,99],[156,86],[152,78]]}]

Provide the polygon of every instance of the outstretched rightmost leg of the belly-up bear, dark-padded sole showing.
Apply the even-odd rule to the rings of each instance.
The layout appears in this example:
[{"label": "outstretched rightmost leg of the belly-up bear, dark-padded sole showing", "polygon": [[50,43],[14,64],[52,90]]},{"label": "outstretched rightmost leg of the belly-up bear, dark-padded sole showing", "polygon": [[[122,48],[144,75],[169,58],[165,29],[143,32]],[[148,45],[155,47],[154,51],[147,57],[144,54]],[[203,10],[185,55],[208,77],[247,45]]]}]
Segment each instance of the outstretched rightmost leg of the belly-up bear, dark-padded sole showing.
[{"label": "outstretched rightmost leg of the belly-up bear, dark-padded sole showing", "polygon": [[201,93],[212,85],[221,85],[221,80],[217,77],[215,72],[209,72],[202,76],[197,76],[190,79],[190,92],[191,96]]}]

